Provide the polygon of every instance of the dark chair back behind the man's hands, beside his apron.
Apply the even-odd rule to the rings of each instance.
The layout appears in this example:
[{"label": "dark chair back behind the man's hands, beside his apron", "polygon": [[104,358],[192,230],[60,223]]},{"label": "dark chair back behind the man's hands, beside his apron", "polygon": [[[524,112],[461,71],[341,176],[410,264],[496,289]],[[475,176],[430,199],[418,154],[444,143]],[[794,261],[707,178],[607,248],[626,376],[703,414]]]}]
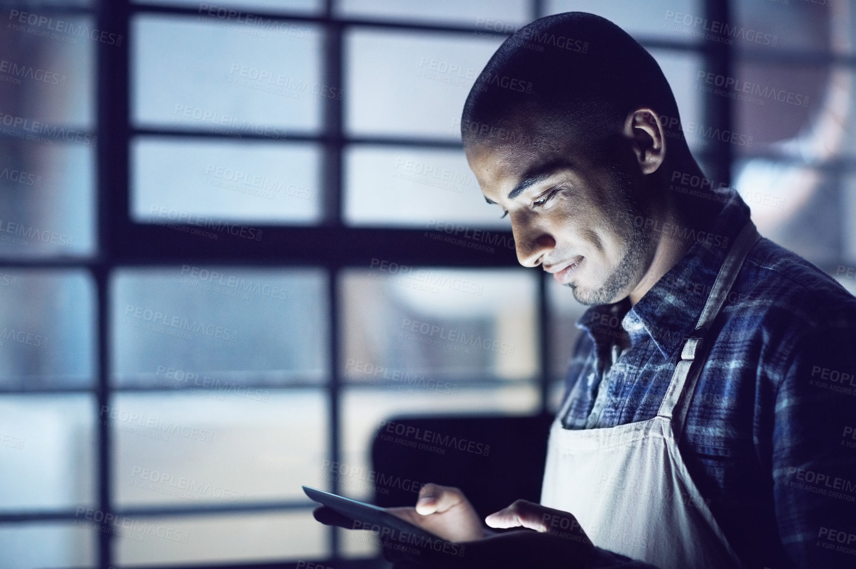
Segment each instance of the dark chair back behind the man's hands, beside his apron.
[{"label": "dark chair back behind the man's hands, beside his apron", "polygon": [[372,444],[375,503],[413,506],[411,481],[460,488],[482,518],[519,498],[537,502],[551,421],[548,415],[391,418]]}]

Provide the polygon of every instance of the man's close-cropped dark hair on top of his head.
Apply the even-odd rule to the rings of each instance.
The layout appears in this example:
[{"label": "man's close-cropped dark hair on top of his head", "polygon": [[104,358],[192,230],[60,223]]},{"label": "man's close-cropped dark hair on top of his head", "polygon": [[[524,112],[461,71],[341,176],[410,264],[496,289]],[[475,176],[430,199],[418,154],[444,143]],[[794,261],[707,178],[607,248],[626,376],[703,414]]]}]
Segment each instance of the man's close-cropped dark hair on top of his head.
[{"label": "man's close-cropped dark hair on top of his head", "polygon": [[[520,28],[490,57],[464,104],[461,138],[465,146],[599,147],[639,107],[678,119],[657,61],[611,21],[567,12]],[[683,136],[671,136],[688,151]]]}]

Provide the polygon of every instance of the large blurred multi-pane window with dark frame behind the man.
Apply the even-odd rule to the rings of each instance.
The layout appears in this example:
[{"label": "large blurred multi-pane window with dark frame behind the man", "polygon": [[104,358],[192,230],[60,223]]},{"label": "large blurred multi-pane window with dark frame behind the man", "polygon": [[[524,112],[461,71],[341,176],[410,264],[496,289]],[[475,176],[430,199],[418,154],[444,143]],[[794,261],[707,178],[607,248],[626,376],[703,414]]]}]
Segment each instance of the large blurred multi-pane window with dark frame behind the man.
[{"label": "large blurred multi-pane window with dark frame behind the man", "polygon": [[710,178],[856,290],[844,3],[222,4],[3,9],[0,568],[369,566],[300,484],[367,497],[329,466],[396,413],[555,409],[585,307],[459,138],[540,15],[639,39]]}]

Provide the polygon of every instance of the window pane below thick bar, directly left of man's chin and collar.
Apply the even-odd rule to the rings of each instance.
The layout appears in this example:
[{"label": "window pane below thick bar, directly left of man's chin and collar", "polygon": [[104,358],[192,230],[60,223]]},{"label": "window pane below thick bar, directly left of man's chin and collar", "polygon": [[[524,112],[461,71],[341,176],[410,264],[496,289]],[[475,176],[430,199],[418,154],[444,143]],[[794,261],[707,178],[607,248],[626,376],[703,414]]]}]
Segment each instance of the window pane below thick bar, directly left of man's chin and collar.
[{"label": "window pane below thick bar, directly left of man's chin and collar", "polygon": [[536,276],[525,270],[402,270],[385,262],[348,270],[341,288],[346,379],[395,389],[415,383],[419,393],[449,394],[473,379],[534,377]]}]

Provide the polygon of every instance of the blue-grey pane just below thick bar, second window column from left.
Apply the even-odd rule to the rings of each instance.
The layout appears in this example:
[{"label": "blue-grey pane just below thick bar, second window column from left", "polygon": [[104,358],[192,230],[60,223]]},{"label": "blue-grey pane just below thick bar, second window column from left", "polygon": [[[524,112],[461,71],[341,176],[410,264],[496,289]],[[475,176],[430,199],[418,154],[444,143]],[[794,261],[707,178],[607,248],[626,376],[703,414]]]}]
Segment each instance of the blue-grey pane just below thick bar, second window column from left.
[{"label": "blue-grey pane just below thick bar, second window column from left", "polygon": [[217,385],[320,381],[327,374],[326,298],[316,270],[119,270],[112,282],[113,374],[121,385],[163,383],[170,369]]}]

